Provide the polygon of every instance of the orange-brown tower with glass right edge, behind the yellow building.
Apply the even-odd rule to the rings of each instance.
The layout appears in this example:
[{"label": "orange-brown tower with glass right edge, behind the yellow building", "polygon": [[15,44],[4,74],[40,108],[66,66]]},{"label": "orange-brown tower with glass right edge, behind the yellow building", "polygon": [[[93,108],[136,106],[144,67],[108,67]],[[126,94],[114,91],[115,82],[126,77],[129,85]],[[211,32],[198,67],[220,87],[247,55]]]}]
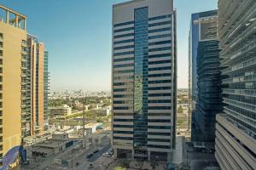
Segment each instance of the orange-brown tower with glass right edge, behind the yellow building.
[{"label": "orange-brown tower with glass right edge, behind the yellow building", "polygon": [[[26,122],[23,136],[44,131],[44,115],[48,102],[48,52],[38,37],[27,35],[27,95],[30,120]],[[46,58],[45,58],[46,57]],[[47,64],[47,65],[45,65]]]}]

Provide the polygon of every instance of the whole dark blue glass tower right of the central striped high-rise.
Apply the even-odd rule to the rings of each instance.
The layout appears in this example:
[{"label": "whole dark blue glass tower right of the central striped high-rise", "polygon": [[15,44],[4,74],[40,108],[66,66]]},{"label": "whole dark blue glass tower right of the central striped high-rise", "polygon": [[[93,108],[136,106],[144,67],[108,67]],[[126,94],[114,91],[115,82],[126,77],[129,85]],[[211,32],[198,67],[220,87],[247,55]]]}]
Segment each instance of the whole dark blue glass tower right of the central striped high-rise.
[{"label": "whole dark blue glass tower right of the central striped high-rise", "polygon": [[[190,43],[192,84],[196,82],[192,111],[191,141],[214,148],[215,116],[221,109],[221,77],[218,49],[217,10],[192,14]],[[196,79],[196,81],[194,80]],[[193,93],[192,93],[193,94]]]}]

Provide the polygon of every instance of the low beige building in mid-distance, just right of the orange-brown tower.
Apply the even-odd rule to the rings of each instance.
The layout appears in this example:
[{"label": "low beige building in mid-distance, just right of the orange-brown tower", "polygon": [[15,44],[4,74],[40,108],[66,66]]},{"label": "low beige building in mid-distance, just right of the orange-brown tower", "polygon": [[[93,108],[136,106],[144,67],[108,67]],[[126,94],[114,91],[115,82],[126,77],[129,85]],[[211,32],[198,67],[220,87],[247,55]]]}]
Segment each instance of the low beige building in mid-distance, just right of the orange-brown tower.
[{"label": "low beige building in mid-distance, just right of the orange-brown tower", "polygon": [[69,116],[71,114],[72,114],[72,107],[68,105],[49,108],[49,117],[51,118],[55,118],[56,116]]}]

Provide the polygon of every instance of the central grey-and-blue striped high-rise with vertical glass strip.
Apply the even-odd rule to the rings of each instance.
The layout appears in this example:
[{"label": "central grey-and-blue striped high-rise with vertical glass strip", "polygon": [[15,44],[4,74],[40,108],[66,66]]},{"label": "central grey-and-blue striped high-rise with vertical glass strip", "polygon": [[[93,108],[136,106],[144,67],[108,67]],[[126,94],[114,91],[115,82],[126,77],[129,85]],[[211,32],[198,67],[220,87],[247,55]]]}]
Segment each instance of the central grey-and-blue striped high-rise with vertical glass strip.
[{"label": "central grey-and-blue striped high-rise with vertical glass strip", "polygon": [[113,5],[115,156],[172,161],[176,51],[172,0],[134,0]]}]

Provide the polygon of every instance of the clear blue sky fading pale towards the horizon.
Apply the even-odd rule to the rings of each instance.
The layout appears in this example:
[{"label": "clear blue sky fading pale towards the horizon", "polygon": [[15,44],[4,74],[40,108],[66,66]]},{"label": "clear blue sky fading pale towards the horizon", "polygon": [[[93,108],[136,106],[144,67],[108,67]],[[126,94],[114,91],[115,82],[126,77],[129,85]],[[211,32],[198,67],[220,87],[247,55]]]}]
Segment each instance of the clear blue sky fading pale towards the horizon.
[{"label": "clear blue sky fading pale towards the horizon", "polygon": [[[112,4],[127,0],[8,0],[27,16],[27,31],[49,51],[50,89],[110,90]],[[192,13],[216,9],[218,0],[175,0],[177,88],[188,88]]]}]

